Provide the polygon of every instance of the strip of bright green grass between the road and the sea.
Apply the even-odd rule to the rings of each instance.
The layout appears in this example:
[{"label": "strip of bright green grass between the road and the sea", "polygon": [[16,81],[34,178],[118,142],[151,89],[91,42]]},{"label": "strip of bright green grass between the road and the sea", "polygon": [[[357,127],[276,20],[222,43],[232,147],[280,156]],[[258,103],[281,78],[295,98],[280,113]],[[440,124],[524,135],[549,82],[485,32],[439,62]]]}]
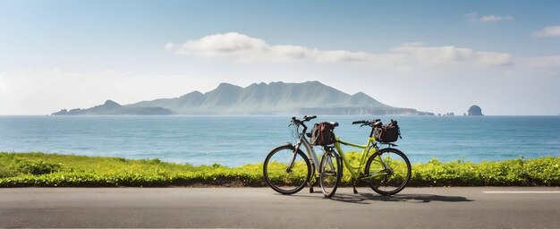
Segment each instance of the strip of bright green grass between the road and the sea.
[{"label": "strip of bright green grass between the road and the sea", "polygon": [[[352,155],[351,155],[352,156]],[[263,155],[264,159],[265,155]],[[354,157],[357,158],[357,157]],[[297,177],[298,175],[294,176]],[[286,179],[286,182],[290,178]],[[343,184],[350,184],[348,172]],[[262,164],[181,165],[159,159],[0,153],[0,187],[266,186]],[[412,165],[409,186],[559,186],[560,157]]]}]

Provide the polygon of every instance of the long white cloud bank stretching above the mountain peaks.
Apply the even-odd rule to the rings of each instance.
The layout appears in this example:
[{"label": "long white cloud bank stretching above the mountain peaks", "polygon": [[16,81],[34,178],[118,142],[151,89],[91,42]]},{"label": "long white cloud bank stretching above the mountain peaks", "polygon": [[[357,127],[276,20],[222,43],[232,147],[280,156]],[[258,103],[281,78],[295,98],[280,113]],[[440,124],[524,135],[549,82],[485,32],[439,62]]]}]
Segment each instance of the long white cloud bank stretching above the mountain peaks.
[{"label": "long white cloud bank stretching above the mountain peaks", "polygon": [[165,49],[177,55],[202,58],[231,58],[242,63],[280,63],[310,61],[316,63],[361,63],[371,66],[420,64],[439,66],[471,64],[492,66],[511,64],[511,55],[479,52],[464,47],[428,47],[421,42],[403,43],[389,53],[373,54],[345,50],[318,50],[293,45],[270,45],[259,38],[230,32],[187,40],[182,45],[165,44]]}]

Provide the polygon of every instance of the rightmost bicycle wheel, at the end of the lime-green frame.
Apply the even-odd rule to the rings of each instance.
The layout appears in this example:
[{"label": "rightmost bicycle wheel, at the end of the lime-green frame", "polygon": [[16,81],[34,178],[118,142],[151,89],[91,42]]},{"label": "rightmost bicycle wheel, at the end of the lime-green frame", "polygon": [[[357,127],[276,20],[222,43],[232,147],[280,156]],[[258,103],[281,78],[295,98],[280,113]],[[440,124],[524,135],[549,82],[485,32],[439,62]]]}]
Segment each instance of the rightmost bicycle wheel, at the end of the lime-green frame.
[{"label": "rightmost bicycle wheel, at the end of the lime-green frame", "polygon": [[395,195],[411,181],[411,162],[396,148],[382,148],[368,159],[369,186],[381,195]]}]

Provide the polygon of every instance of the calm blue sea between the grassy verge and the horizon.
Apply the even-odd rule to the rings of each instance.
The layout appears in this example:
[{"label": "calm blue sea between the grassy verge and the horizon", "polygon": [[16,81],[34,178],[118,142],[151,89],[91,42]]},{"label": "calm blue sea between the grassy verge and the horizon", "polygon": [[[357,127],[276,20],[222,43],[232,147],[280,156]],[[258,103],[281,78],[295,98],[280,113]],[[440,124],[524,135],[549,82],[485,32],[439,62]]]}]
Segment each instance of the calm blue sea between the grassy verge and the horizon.
[{"label": "calm blue sea between the grassy verge and the horizon", "polygon": [[[381,116],[399,121],[396,143],[412,162],[560,157],[560,116]],[[337,121],[341,139],[364,144],[370,116],[319,116]],[[0,116],[0,151],[243,165],[293,141],[288,116]],[[310,123],[309,126],[312,124]],[[349,149],[349,148],[344,148]]]}]

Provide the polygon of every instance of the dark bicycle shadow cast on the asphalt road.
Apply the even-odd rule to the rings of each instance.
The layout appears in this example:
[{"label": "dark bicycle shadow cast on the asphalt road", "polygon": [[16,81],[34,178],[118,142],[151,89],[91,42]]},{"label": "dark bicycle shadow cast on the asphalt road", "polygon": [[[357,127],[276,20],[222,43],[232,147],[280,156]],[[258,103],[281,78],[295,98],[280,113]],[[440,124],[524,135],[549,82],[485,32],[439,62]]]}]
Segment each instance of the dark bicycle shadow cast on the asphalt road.
[{"label": "dark bicycle shadow cast on the asphalt road", "polygon": [[359,194],[335,194],[332,198],[336,201],[342,201],[347,203],[358,203],[358,204],[371,204],[371,201],[393,201],[393,202],[411,202],[411,203],[429,203],[431,201],[443,201],[443,202],[464,202],[472,201],[471,199],[466,199],[464,197],[458,196],[440,196],[432,194],[397,194],[395,196],[381,196],[374,195],[371,193],[359,193]]}]

